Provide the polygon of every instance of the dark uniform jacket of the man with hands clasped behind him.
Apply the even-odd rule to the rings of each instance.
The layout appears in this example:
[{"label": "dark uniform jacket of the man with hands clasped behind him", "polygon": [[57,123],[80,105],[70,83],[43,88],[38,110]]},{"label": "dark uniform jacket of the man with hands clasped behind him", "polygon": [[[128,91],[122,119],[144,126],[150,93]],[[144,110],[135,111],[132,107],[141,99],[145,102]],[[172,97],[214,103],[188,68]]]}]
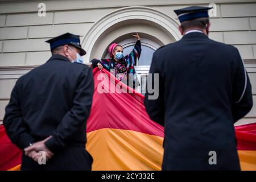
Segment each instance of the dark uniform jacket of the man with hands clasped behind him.
[{"label": "dark uniform jacket of the man with hands clasped behind him", "polygon": [[16,82],[3,125],[21,149],[50,135],[46,146],[53,152],[85,146],[92,96],[92,69],[53,55]]}]

